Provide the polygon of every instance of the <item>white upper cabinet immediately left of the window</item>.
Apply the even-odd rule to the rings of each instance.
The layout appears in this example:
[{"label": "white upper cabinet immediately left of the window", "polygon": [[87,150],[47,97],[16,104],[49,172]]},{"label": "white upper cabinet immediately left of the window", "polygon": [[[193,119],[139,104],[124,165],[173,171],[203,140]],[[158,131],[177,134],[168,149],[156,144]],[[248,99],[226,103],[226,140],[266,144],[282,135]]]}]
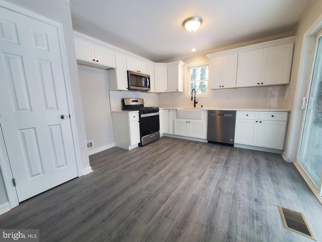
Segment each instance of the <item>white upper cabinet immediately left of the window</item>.
[{"label": "white upper cabinet immediately left of the window", "polygon": [[184,65],[182,61],[168,63],[168,92],[183,92]]}]

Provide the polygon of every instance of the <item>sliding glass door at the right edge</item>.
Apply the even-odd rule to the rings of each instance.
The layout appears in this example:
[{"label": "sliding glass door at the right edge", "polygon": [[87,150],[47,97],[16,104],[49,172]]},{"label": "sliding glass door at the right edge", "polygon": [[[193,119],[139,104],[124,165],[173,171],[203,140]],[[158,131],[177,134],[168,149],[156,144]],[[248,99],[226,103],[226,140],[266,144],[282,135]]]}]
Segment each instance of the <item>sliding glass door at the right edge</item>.
[{"label": "sliding glass door at the right edge", "polygon": [[297,161],[322,195],[322,33],[316,38],[312,68]]}]

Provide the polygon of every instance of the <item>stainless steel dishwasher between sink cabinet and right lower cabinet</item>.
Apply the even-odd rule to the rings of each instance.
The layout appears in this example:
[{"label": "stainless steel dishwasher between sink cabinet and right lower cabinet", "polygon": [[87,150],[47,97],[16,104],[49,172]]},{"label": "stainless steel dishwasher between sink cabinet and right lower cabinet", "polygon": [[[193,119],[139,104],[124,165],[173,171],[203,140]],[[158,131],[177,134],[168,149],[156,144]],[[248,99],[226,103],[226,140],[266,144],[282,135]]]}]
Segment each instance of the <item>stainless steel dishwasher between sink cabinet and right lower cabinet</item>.
[{"label": "stainless steel dishwasher between sink cabinet and right lower cabinet", "polygon": [[235,135],[236,111],[208,111],[208,142],[233,145]]}]

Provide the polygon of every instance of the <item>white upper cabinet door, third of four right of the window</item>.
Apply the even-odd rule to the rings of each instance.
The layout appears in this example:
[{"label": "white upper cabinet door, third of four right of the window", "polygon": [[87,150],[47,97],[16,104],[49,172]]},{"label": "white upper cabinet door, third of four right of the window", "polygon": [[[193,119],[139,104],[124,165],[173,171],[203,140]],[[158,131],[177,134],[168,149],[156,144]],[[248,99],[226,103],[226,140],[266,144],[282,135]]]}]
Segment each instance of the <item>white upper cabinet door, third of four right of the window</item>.
[{"label": "white upper cabinet door, third of four right of the window", "polygon": [[238,54],[236,87],[261,85],[263,49]]}]

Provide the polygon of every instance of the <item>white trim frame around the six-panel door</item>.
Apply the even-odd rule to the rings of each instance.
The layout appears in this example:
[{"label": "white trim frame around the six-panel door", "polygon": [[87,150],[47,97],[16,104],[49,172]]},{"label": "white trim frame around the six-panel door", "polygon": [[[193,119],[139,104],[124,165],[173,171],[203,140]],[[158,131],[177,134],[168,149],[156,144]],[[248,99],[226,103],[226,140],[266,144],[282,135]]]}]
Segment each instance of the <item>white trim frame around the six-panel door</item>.
[{"label": "white trim frame around the six-panel door", "polygon": [[[61,61],[62,61],[62,69],[63,69],[63,75],[64,75],[64,79],[65,79],[67,105],[68,105],[68,110],[70,113],[69,120],[70,120],[71,132],[72,132],[74,154],[75,154],[75,158],[76,158],[77,173],[78,173],[78,176],[82,176],[83,171],[82,171],[82,163],[81,163],[81,153],[80,153],[79,144],[78,144],[76,120],[74,118],[75,113],[74,113],[72,95],[71,95],[71,85],[70,85],[69,72],[68,72],[63,26],[59,22],[56,22],[56,21],[51,20],[49,18],[46,18],[40,14],[34,13],[32,11],[29,11],[29,10],[19,7],[17,5],[5,2],[3,0],[0,0],[0,7],[57,27],[58,41],[59,41],[59,45],[60,45],[60,55],[61,55]],[[19,205],[19,201],[18,201],[18,195],[16,192],[16,188],[14,187],[13,181],[12,181],[13,175],[12,175],[9,157],[7,154],[6,145],[5,145],[5,141],[4,141],[1,127],[0,127],[0,168],[1,168],[1,171],[3,174],[3,179],[4,179],[10,207],[14,208]],[[1,214],[1,211],[0,211],[0,214]]]}]

